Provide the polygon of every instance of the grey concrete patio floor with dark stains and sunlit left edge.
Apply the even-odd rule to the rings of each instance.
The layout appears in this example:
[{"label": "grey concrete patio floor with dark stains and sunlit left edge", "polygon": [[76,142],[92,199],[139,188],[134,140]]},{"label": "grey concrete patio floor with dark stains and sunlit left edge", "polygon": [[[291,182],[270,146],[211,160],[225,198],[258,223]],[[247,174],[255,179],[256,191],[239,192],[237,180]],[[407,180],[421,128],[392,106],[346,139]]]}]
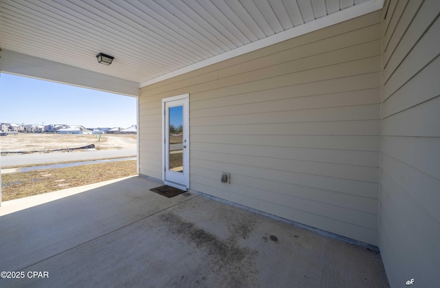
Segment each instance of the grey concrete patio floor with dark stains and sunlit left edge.
[{"label": "grey concrete patio floor with dark stains and sunlit left edge", "polygon": [[0,272],[24,277],[0,287],[388,287],[377,252],[149,191],[160,185],[130,177],[3,202]]}]

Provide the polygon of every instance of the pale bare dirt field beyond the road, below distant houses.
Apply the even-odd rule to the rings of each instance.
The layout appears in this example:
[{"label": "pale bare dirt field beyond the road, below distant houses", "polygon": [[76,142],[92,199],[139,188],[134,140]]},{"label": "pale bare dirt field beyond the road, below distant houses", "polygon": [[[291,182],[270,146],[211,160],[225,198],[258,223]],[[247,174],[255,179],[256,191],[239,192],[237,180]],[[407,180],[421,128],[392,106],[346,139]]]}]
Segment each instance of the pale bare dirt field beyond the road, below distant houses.
[{"label": "pale bare dirt field beyond the road, below distant houses", "polygon": [[136,148],[137,135],[102,134],[99,135],[65,135],[21,133],[0,137],[1,152],[46,151],[62,148],[78,148],[95,144],[96,149]]}]

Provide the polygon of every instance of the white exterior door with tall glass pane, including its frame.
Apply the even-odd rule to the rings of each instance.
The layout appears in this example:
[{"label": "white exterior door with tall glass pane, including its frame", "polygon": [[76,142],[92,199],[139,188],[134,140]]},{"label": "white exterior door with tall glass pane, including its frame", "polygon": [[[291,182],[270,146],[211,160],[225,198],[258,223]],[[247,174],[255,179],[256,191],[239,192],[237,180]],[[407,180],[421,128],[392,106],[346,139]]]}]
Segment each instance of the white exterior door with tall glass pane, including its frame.
[{"label": "white exterior door with tall glass pane, including its frame", "polygon": [[164,183],[189,188],[189,94],[162,100]]}]

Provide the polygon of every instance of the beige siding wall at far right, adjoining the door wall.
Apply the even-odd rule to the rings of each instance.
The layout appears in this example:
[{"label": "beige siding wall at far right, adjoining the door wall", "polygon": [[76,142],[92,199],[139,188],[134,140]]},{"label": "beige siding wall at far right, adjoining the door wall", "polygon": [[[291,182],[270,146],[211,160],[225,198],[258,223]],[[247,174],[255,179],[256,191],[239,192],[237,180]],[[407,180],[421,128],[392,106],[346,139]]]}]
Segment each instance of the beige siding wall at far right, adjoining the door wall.
[{"label": "beige siding wall at far right, adjoining the door wall", "polygon": [[440,1],[392,0],[383,22],[379,245],[391,287],[439,285]]}]

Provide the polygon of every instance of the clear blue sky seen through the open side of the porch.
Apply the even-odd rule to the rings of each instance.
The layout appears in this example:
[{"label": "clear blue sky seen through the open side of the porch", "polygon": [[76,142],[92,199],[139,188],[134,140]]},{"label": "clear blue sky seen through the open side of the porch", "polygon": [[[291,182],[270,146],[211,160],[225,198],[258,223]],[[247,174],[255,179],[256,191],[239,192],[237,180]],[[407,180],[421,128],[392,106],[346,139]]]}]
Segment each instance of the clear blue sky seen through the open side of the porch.
[{"label": "clear blue sky seen through the open side of the porch", "polygon": [[0,74],[0,122],[127,128],[136,124],[136,98]]}]

